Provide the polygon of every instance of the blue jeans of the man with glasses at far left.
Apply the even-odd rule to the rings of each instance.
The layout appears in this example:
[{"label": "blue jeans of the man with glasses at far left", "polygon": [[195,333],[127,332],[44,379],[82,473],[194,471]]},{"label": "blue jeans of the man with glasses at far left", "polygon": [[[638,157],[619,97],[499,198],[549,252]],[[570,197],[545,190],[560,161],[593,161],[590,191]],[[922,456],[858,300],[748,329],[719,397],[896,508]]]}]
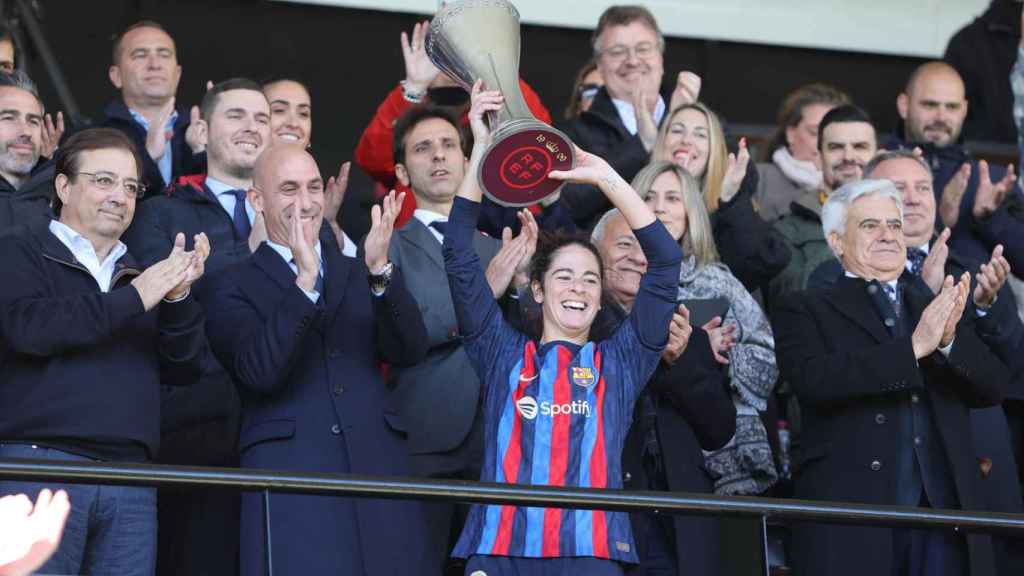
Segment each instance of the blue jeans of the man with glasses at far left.
[{"label": "blue jeans of the man with glasses at far left", "polygon": [[[60,450],[0,444],[0,458],[89,461]],[[26,494],[33,501],[43,488],[65,490],[71,515],[60,546],[39,569],[42,574],[152,575],[157,565],[157,490],[52,482],[0,482],[0,495]]]}]

